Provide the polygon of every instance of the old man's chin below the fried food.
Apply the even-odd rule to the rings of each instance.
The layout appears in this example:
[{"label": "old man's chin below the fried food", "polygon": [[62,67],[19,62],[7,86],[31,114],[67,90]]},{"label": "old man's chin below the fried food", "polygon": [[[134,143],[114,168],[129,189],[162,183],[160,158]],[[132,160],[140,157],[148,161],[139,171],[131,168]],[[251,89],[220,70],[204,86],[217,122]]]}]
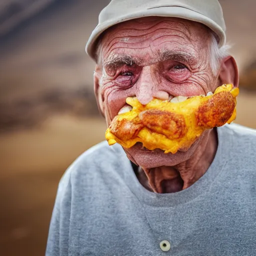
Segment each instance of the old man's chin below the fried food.
[{"label": "old man's chin below the fried food", "polygon": [[130,148],[124,148],[127,157],[135,164],[144,168],[159,166],[174,166],[188,160],[198,147],[203,136],[200,136],[186,151],[177,151],[175,154],[164,153],[161,149],[148,150],[142,148],[142,143],[137,142]]}]

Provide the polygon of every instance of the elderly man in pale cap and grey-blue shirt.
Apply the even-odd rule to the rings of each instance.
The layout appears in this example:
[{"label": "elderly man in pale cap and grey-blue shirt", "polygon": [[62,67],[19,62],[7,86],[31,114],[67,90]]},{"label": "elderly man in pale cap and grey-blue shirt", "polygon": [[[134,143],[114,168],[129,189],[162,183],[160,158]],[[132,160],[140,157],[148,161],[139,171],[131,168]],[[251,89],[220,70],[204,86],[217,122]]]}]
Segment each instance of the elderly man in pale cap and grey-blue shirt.
[{"label": "elderly man in pale cap and grey-blue shirt", "polygon": [[[236,88],[228,48],[217,0],[112,0],[86,45],[107,125],[128,97],[145,107]],[[218,118],[219,102],[205,111]],[[175,153],[106,141],[84,152],[59,183],[46,255],[256,255],[256,132],[216,126]]]}]

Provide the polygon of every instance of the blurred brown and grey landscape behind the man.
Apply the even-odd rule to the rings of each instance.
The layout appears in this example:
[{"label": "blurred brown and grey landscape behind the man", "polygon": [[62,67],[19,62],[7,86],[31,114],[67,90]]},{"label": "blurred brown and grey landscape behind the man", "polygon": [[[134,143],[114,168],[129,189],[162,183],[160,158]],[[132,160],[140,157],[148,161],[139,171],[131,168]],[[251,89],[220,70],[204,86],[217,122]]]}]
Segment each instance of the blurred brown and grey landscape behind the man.
[{"label": "blurred brown and grey landscape behind the man", "polygon": [[[0,0],[0,251],[44,255],[58,181],[104,139],[84,52],[109,0]],[[236,122],[256,128],[255,0],[220,0],[240,70]]]}]

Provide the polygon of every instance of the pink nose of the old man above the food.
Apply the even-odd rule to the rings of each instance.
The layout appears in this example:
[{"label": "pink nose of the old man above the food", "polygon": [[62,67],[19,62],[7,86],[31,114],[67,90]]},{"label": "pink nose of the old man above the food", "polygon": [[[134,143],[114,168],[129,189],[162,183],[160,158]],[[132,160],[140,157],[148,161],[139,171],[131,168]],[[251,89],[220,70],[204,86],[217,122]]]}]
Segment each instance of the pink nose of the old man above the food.
[{"label": "pink nose of the old man above the food", "polygon": [[141,104],[146,105],[153,99],[153,89],[155,85],[150,67],[143,67],[139,80],[137,81],[135,92],[135,95]]}]

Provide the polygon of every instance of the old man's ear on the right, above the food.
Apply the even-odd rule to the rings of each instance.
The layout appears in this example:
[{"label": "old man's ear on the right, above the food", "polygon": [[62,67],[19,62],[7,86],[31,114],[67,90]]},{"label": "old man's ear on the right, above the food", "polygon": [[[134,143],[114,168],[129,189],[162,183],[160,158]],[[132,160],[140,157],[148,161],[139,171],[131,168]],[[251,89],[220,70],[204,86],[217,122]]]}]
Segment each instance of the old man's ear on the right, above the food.
[{"label": "old man's ear on the right, above the food", "polygon": [[225,57],[220,66],[219,83],[232,83],[234,87],[239,85],[239,73],[237,64],[232,56]]}]

